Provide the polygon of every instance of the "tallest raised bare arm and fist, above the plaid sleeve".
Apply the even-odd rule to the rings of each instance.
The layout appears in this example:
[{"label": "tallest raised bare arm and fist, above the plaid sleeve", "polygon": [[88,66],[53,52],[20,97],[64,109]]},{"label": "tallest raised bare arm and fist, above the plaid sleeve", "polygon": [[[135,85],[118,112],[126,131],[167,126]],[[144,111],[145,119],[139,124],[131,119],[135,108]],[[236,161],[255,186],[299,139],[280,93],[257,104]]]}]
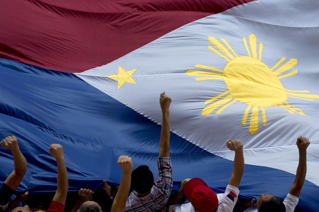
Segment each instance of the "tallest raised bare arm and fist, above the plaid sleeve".
[{"label": "tallest raised bare arm and fist, above the plaid sleeve", "polygon": [[169,157],[169,106],[171,102],[172,99],[165,94],[165,91],[160,94],[159,104],[162,109],[163,123],[159,140],[159,157]]}]

